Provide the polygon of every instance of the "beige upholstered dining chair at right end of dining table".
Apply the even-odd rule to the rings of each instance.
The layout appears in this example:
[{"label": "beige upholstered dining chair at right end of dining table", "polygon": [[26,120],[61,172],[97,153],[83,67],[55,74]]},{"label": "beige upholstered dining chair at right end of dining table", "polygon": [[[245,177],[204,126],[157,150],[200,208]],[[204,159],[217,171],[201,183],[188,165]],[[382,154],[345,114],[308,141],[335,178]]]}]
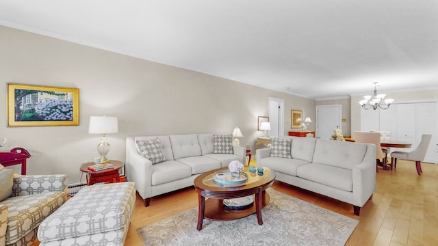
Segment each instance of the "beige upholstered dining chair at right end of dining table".
[{"label": "beige upholstered dining chair at right end of dining table", "polygon": [[431,134],[423,134],[422,140],[420,144],[418,144],[415,150],[411,152],[404,151],[394,151],[391,153],[391,165],[394,163],[394,168],[397,167],[397,159],[405,159],[409,161],[415,161],[415,167],[417,167],[417,174],[422,175],[422,161],[424,160],[424,156],[426,156],[427,148],[430,143],[430,139],[432,139]]}]

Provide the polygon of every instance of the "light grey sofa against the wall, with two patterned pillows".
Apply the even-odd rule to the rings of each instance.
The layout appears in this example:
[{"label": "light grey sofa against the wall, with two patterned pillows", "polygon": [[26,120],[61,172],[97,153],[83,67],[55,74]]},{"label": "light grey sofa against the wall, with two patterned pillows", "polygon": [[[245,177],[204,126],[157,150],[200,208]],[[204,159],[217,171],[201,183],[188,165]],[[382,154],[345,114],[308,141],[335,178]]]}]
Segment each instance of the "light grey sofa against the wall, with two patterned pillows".
[{"label": "light grey sofa against the wall, with two patterned pillows", "polygon": [[[218,140],[225,138],[226,143]],[[153,157],[148,157],[140,148],[157,145],[155,140],[159,142],[159,150],[152,148],[149,154],[152,152]],[[137,143],[141,141],[144,143],[139,146]],[[245,159],[246,148],[232,146],[231,135],[201,133],[127,137],[125,174],[127,180],[136,182],[144,206],[149,206],[151,197],[190,187],[200,174],[227,167],[231,161],[244,163]]]}]

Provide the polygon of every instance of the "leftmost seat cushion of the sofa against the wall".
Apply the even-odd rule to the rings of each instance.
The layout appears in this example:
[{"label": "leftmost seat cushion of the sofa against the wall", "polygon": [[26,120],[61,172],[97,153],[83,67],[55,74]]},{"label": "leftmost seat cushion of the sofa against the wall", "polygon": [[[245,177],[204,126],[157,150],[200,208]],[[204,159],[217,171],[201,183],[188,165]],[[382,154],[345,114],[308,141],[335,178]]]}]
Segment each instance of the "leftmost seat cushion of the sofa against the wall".
[{"label": "leftmost seat cushion of the sofa against the wall", "polygon": [[152,166],[152,185],[164,184],[192,176],[192,168],[179,161],[164,161]]}]

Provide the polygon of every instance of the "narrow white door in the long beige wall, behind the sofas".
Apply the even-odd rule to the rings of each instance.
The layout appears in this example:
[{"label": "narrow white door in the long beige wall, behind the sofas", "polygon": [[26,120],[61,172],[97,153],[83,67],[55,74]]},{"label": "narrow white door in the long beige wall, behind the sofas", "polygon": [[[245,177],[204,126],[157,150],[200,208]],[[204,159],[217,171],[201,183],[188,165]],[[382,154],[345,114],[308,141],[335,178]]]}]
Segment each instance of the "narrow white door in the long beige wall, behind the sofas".
[{"label": "narrow white door in the long beige wall, behind the sofas", "polygon": [[269,122],[271,125],[270,137],[281,137],[285,132],[284,124],[285,101],[278,98],[269,98]]}]

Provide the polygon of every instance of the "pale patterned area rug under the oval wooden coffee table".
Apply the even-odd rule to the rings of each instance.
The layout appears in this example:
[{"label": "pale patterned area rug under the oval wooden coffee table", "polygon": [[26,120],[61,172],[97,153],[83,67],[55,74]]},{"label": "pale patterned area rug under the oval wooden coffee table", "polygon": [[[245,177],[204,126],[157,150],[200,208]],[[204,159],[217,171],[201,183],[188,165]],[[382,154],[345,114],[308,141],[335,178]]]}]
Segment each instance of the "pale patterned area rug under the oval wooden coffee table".
[{"label": "pale patterned area rug under the oval wooden coffee table", "polygon": [[198,208],[138,228],[144,245],[345,245],[356,219],[268,189],[270,203],[256,215],[234,221],[204,219],[196,230]]}]

